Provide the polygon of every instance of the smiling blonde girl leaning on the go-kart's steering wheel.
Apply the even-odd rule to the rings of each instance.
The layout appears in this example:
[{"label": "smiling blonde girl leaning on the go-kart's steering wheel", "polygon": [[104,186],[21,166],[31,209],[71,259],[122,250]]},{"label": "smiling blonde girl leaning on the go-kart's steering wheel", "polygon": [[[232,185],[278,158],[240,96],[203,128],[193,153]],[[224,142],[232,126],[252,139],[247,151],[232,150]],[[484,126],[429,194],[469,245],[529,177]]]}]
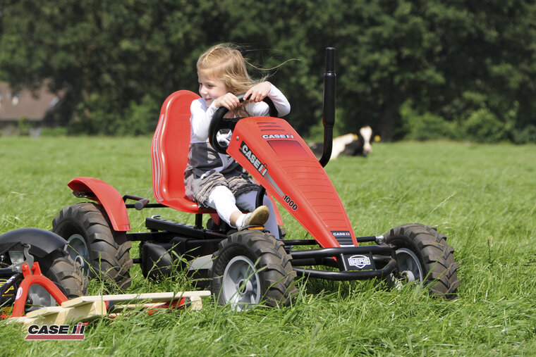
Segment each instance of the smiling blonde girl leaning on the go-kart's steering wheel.
[{"label": "smiling blonde girl leaning on the go-kart's steering wheel", "polygon": [[[190,106],[186,195],[200,206],[215,208],[231,227],[240,230],[248,225],[264,225],[279,239],[272,201],[264,196],[264,206],[255,209],[259,186],[231,156],[212,149],[208,135],[212,116],[221,106],[229,109],[226,118],[233,118],[268,115],[269,108],[262,102],[266,96],[274,102],[279,116],[291,111],[290,104],[270,82],[253,82],[242,54],[230,44],[213,46],[202,54],[197,60],[197,77],[201,98]],[[240,104],[236,95],[244,92],[244,102]],[[230,138],[231,132],[219,134],[218,141],[229,142]],[[242,213],[239,208],[250,213]]]}]

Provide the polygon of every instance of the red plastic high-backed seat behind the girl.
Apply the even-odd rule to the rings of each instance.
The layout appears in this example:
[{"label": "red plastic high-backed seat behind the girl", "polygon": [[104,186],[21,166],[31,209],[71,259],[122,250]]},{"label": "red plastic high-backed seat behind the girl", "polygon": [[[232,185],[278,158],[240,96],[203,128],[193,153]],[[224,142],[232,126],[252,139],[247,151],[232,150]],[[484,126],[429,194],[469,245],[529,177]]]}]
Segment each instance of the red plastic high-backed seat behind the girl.
[{"label": "red plastic high-backed seat behind the girl", "polygon": [[151,146],[152,191],[165,206],[188,213],[213,213],[202,210],[184,195],[184,170],[190,146],[190,104],[197,94],[181,90],[167,97],[154,131]]}]

